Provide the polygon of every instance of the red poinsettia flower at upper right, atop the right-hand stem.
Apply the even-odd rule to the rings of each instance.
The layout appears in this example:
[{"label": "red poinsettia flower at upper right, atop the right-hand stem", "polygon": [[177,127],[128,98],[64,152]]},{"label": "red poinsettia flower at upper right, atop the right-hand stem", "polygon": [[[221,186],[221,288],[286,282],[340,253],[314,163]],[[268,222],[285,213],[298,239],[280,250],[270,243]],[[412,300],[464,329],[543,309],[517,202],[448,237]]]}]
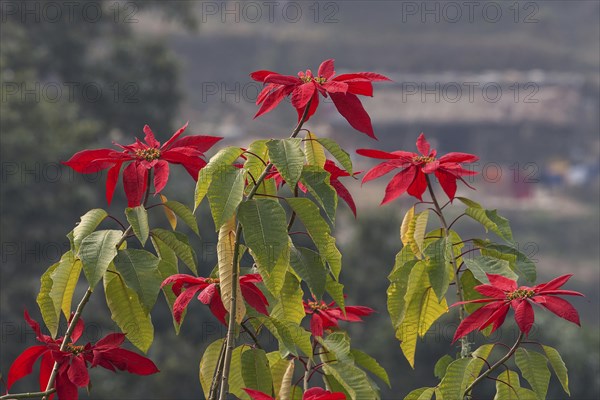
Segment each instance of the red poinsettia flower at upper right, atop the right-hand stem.
[{"label": "red poinsettia flower at upper right, atop the right-hand stem", "polygon": [[371,168],[363,177],[363,183],[379,178],[395,169],[402,169],[388,183],[381,204],[396,199],[404,192],[422,201],[423,193],[427,189],[426,174],[435,174],[450,200],[454,199],[456,181],[459,179],[473,189],[462,177],[476,175],[477,172],[463,168],[462,164],[479,160],[477,156],[467,153],[448,153],[438,159],[436,158],[437,151],[430,149],[429,142],[422,133],[417,139],[417,149],[421,154],[408,151],[388,153],[373,149],[356,151],[361,156],[389,160]]}]

